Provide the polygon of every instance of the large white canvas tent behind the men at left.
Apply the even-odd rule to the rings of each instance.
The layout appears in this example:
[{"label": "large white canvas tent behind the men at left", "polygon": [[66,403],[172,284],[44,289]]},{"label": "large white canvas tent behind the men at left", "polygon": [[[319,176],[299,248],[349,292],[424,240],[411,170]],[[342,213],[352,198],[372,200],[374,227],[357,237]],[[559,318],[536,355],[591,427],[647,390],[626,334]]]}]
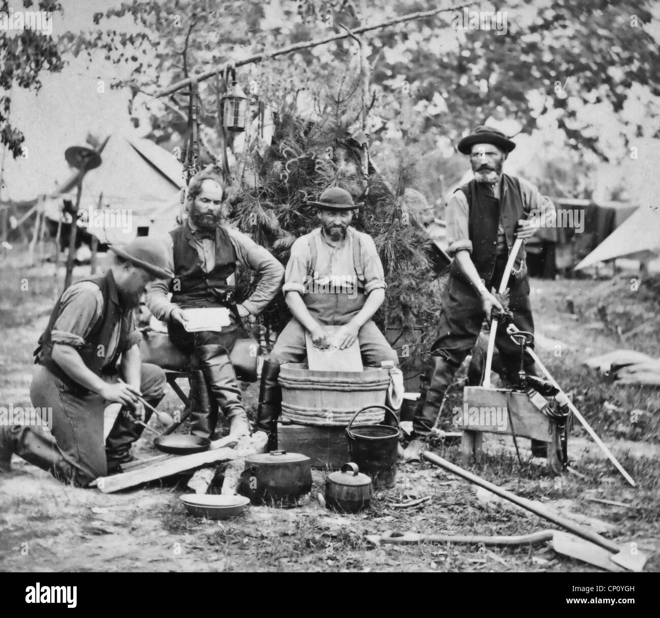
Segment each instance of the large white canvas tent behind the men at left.
[{"label": "large white canvas tent behind the men at left", "polygon": [[[104,140],[98,150],[102,164],[84,176],[80,209],[98,209],[101,201],[108,213],[97,217],[91,225],[83,215],[87,231],[101,243],[125,242],[136,235],[149,234],[156,214],[180,198],[182,164],[150,140],[117,133]],[[78,173],[73,174],[53,197],[60,203],[62,199],[75,203],[77,179]]]}]

